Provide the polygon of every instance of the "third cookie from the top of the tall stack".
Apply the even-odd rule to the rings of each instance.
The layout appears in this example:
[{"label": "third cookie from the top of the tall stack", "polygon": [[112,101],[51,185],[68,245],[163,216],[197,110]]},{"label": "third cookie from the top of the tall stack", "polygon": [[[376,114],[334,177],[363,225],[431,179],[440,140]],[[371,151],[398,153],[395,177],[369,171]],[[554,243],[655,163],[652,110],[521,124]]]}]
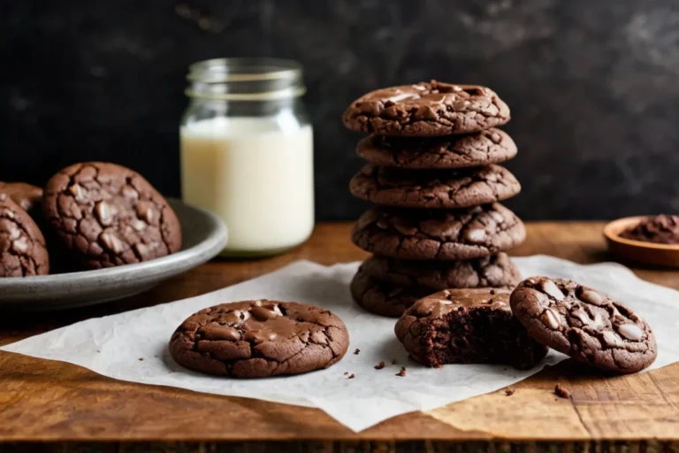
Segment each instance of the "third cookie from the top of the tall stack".
[{"label": "third cookie from the top of the tall stack", "polygon": [[362,200],[404,208],[467,208],[506,200],[521,184],[500,165],[418,170],[365,165],[349,190]]}]

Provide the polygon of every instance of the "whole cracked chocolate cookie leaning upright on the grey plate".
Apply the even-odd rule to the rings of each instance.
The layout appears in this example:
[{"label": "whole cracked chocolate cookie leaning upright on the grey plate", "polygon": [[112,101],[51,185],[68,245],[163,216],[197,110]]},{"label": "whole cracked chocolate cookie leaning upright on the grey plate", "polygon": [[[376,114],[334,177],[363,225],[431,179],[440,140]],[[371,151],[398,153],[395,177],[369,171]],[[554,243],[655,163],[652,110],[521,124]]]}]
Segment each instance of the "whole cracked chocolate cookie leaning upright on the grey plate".
[{"label": "whole cracked chocolate cookie leaning upright on the grey plate", "polygon": [[65,247],[90,268],[148,261],[181,248],[170,205],[124,166],[66,167],[48,181],[42,210]]}]

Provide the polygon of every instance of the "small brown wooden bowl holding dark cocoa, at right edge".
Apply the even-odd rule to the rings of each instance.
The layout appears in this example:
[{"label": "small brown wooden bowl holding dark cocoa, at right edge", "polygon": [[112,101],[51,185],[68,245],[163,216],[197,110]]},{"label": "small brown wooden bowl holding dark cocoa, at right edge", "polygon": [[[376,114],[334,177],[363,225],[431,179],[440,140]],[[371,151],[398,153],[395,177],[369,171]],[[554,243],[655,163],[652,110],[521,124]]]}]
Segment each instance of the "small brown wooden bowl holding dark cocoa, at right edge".
[{"label": "small brown wooden bowl holding dark cocoa, at right edge", "polygon": [[641,220],[648,219],[648,217],[626,217],[614,220],[604,226],[608,250],[623,261],[663,267],[679,267],[679,245],[633,241],[620,237],[623,231],[636,226]]}]

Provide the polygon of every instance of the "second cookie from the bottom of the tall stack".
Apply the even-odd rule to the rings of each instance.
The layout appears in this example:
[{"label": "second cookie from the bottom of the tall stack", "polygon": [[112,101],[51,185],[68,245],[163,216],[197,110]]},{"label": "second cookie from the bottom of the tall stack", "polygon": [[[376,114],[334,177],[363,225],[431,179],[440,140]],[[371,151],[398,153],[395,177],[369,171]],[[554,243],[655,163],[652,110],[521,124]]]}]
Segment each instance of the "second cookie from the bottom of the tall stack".
[{"label": "second cookie from the bottom of the tall stack", "polygon": [[506,253],[465,261],[408,261],[373,256],[362,272],[392,285],[419,286],[431,291],[447,288],[514,288],[519,270]]}]

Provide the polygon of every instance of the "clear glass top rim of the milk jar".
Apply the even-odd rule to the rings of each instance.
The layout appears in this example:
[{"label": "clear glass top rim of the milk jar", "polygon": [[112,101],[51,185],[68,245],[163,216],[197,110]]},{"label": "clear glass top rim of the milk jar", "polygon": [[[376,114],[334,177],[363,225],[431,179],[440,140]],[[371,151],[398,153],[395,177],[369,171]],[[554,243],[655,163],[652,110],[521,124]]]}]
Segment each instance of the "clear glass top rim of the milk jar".
[{"label": "clear glass top rim of the milk jar", "polygon": [[284,58],[211,58],[189,65],[187,81],[271,81],[301,78],[301,72],[299,62]]}]

